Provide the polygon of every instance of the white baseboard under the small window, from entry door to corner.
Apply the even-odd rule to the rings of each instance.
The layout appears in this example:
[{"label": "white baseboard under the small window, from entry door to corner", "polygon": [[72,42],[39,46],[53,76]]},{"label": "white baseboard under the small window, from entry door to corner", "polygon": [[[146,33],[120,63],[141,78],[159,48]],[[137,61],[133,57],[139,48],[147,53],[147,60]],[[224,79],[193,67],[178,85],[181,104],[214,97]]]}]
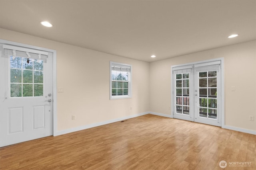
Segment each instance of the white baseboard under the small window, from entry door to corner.
[{"label": "white baseboard under the small window, from entry door to corner", "polygon": [[130,115],[130,116],[121,117],[121,118],[117,118],[117,119],[112,119],[112,120],[108,120],[108,121],[103,121],[103,122],[99,122],[99,123],[92,123],[90,125],[84,125],[84,126],[80,126],[80,127],[74,127],[74,128],[71,128],[71,129],[65,129],[63,131],[57,131],[56,133],[54,133],[53,136],[64,135],[66,133],[81,131],[81,130],[84,130],[84,129],[89,129],[89,128],[97,127],[97,126],[101,126],[101,125],[106,125],[108,123],[114,123],[114,122],[117,122],[117,121],[122,121],[122,120],[125,120],[125,119],[130,119],[130,118],[133,118],[133,117],[146,115],[148,113],[149,112],[139,113],[139,114],[136,114],[136,115]]}]

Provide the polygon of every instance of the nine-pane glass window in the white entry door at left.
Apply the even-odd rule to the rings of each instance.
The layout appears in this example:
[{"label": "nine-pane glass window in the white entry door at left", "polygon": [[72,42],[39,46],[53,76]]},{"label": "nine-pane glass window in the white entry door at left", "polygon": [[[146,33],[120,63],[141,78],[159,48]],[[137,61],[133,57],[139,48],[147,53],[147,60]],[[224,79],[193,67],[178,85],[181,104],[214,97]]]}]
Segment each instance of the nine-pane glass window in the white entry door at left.
[{"label": "nine-pane glass window in the white entry door at left", "polygon": [[44,94],[44,61],[10,56],[10,97]]}]

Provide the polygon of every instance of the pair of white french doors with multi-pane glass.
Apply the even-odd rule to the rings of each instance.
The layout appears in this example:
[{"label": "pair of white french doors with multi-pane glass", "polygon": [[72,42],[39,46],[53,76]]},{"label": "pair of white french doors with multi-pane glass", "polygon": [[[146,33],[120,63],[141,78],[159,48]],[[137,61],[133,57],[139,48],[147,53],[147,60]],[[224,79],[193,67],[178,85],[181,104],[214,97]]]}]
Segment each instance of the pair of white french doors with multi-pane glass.
[{"label": "pair of white french doors with multi-pane glass", "polygon": [[174,66],[174,118],[221,126],[221,61]]}]

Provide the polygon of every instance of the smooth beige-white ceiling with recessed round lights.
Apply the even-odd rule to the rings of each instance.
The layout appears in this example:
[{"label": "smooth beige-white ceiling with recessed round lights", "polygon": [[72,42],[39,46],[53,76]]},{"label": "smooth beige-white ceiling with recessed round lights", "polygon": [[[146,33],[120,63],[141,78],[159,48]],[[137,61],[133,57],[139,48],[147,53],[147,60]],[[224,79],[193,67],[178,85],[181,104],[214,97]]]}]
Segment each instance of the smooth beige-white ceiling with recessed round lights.
[{"label": "smooth beige-white ceiling with recessed round lights", "polygon": [[256,0],[0,0],[0,27],[152,62],[255,40]]}]

